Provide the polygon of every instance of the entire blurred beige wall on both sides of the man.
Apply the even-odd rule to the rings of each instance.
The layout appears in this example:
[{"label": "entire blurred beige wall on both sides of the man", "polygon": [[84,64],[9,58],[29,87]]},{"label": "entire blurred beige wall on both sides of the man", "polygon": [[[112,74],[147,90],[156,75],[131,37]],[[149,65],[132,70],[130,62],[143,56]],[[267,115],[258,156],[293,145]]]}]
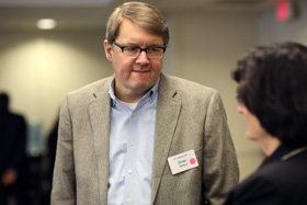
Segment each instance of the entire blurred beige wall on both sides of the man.
[{"label": "entire blurred beige wall on both sides of the man", "polygon": [[[249,47],[272,41],[307,43],[307,3],[302,19],[276,23],[274,9],[248,12],[167,13],[171,42],[164,72],[219,90],[234,137],[241,179],[262,160],[262,151],[245,137],[245,121],[236,109],[230,71]],[[305,12],[305,13],[304,13]],[[42,125],[45,137],[64,93],[112,75],[103,50],[103,31],[0,32],[0,91],[12,96],[12,109],[30,124]]]}]

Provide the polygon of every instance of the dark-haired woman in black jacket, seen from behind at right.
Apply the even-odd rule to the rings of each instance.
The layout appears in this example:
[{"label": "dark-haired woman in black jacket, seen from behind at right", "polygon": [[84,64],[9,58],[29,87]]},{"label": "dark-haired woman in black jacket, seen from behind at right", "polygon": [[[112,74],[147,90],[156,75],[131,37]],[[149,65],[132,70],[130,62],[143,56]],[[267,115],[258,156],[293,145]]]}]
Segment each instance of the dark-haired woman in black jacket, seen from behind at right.
[{"label": "dark-haired woman in black jacket, seen from behind at right", "polygon": [[[238,61],[234,78],[247,137],[258,141],[268,158],[230,192],[225,205],[306,205],[307,47],[259,46]],[[251,118],[260,123],[258,129]]]}]

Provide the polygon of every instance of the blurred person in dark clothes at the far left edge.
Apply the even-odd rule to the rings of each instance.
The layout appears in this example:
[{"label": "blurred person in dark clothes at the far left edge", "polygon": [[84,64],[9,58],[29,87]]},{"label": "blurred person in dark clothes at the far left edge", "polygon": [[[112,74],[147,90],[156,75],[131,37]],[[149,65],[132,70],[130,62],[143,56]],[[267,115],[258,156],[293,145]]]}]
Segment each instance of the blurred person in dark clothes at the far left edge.
[{"label": "blurred person in dark clothes at the far left edge", "polygon": [[22,166],[25,160],[26,123],[23,116],[9,111],[9,95],[0,94],[0,203],[8,196],[23,204]]}]

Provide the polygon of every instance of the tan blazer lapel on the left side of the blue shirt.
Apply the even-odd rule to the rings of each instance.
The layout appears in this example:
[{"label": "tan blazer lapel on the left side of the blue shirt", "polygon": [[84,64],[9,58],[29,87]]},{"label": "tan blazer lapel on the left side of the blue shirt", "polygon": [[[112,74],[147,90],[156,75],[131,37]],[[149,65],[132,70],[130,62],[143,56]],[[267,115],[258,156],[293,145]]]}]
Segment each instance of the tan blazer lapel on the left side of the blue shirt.
[{"label": "tan blazer lapel on the left side of the blue shirt", "polygon": [[[89,103],[89,115],[93,132],[94,150],[98,160],[98,171],[100,181],[100,198],[106,204],[107,179],[109,179],[109,135],[110,135],[110,96],[107,86],[100,88],[103,91],[93,93],[95,99]],[[99,95],[100,93],[101,95]]]}]

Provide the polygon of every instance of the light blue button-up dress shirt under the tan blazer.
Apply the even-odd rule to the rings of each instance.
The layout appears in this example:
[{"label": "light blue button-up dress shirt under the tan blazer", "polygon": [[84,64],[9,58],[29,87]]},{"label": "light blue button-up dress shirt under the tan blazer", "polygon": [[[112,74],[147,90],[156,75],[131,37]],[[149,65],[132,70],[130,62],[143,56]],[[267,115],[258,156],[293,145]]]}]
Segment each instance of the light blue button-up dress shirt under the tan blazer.
[{"label": "light blue button-up dress shirt under the tan blazer", "polygon": [[107,205],[149,205],[160,79],[134,110],[116,99],[114,80],[109,90],[112,111]]}]

